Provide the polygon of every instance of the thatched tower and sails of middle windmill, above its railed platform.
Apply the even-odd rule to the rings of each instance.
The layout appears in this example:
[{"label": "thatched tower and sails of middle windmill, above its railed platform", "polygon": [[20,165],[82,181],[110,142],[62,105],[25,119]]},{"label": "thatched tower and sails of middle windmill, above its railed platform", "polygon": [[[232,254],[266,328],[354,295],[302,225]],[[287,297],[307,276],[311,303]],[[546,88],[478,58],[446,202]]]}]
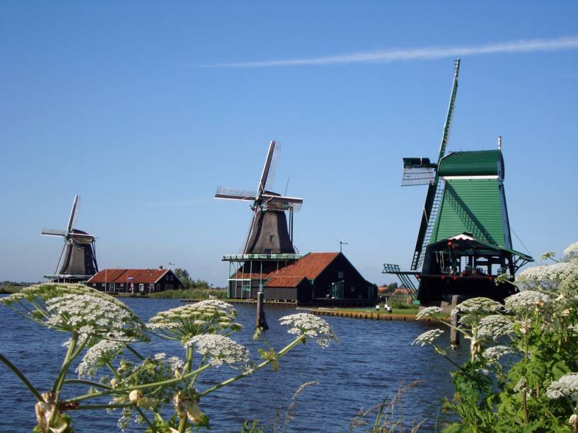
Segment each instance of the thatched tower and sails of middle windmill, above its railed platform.
[{"label": "thatched tower and sails of middle windmill, above its railed platform", "polygon": [[[256,191],[232,190],[219,187],[215,198],[251,202],[253,219],[243,244],[243,254],[294,254],[293,214],[301,209],[303,199],[272,192],[281,144],[269,144],[265,165]],[[287,217],[289,212],[289,230]]]}]

